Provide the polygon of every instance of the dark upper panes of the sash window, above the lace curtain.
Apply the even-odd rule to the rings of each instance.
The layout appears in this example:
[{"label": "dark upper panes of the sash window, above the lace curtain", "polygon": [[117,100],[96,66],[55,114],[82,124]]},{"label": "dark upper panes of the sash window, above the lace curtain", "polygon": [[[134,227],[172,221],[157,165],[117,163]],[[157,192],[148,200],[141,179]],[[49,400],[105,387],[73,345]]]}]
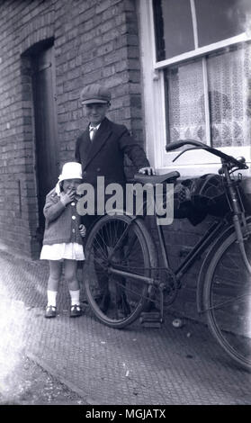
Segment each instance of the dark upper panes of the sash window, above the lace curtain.
[{"label": "dark upper panes of the sash window, above the lace curtain", "polygon": [[248,29],[250,0],[152,2],[157,61],[227,40]]}]

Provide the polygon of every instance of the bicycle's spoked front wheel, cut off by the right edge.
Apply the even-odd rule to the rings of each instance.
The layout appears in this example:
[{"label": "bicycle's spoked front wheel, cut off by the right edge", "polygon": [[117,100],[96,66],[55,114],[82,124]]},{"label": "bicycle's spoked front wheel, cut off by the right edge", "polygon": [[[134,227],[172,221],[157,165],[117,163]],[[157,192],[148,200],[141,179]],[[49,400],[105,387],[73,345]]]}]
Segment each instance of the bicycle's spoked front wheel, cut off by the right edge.
[{"label": "bicycle's spoked front wheel, cut off by the right edge", "polygon": [[[251,261],[250,224],[245,250]],[[240,254],[235,232],[221,244],[211,260],[203,302],[212,335],[238,365],[250,370],[251,275]]]}]

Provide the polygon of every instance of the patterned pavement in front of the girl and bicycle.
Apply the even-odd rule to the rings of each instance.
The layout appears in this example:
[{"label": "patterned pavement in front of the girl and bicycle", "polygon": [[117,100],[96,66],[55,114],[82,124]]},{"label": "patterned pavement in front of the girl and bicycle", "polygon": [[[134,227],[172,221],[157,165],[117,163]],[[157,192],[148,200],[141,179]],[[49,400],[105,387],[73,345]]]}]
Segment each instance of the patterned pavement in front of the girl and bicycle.
[{"label": "patterned pavement in front of the girl and bicycle", "polygon": [[48,275],[46,261],[0,252],[0,392],[9,403],[25,355],[85,404],[251,404],[251,374],[225,355],[202,322],[183,318],[177,329],[178,316],[166,313],[161,329],[143,328],[139,320],[110,329],[87,305],[82,317],[69,319],[64,280],[57,318],[44,319]]}]

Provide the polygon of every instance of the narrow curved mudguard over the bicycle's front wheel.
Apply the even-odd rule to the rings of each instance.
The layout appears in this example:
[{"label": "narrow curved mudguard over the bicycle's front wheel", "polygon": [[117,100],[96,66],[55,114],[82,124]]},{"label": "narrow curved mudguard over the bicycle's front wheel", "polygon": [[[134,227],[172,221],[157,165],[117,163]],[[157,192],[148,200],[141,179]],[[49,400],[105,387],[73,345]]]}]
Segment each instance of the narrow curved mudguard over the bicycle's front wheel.
[{"label": "narrow curved mudguard over the bicycle's front wheel", "polygon": [[[247,216],[247,223],[251,223],[251,216]],[[204,291],[204,281],[205,275],[208,270],[208,267],[211,263],[211,258],[214,255],[215,250],[220,247],[220,244],[229,237],[235,231],[234,225],[228,225],[227,227],[223,226],[222,231],[220,232],[219,237],[213,242],[209,248],[206,257],[203,260],[200,274],[198,276],[197,288],[196,288],[196,303],[198,313],[202,313],[203,310],[203,291]]]}]

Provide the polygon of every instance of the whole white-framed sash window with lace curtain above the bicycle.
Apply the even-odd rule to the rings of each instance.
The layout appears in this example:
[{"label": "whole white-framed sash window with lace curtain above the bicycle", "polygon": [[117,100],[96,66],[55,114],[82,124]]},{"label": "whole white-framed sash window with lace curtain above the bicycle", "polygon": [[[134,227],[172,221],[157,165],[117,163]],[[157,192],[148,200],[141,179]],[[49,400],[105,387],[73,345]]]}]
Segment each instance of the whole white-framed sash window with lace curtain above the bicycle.
[{"label": "whole white-framed sash window with lace curtain above the bicycle", "polygon": [[251,1],[140,0],[139,18],[151,162],[170,166],[165,145],[188,138],[250,159]]}]

